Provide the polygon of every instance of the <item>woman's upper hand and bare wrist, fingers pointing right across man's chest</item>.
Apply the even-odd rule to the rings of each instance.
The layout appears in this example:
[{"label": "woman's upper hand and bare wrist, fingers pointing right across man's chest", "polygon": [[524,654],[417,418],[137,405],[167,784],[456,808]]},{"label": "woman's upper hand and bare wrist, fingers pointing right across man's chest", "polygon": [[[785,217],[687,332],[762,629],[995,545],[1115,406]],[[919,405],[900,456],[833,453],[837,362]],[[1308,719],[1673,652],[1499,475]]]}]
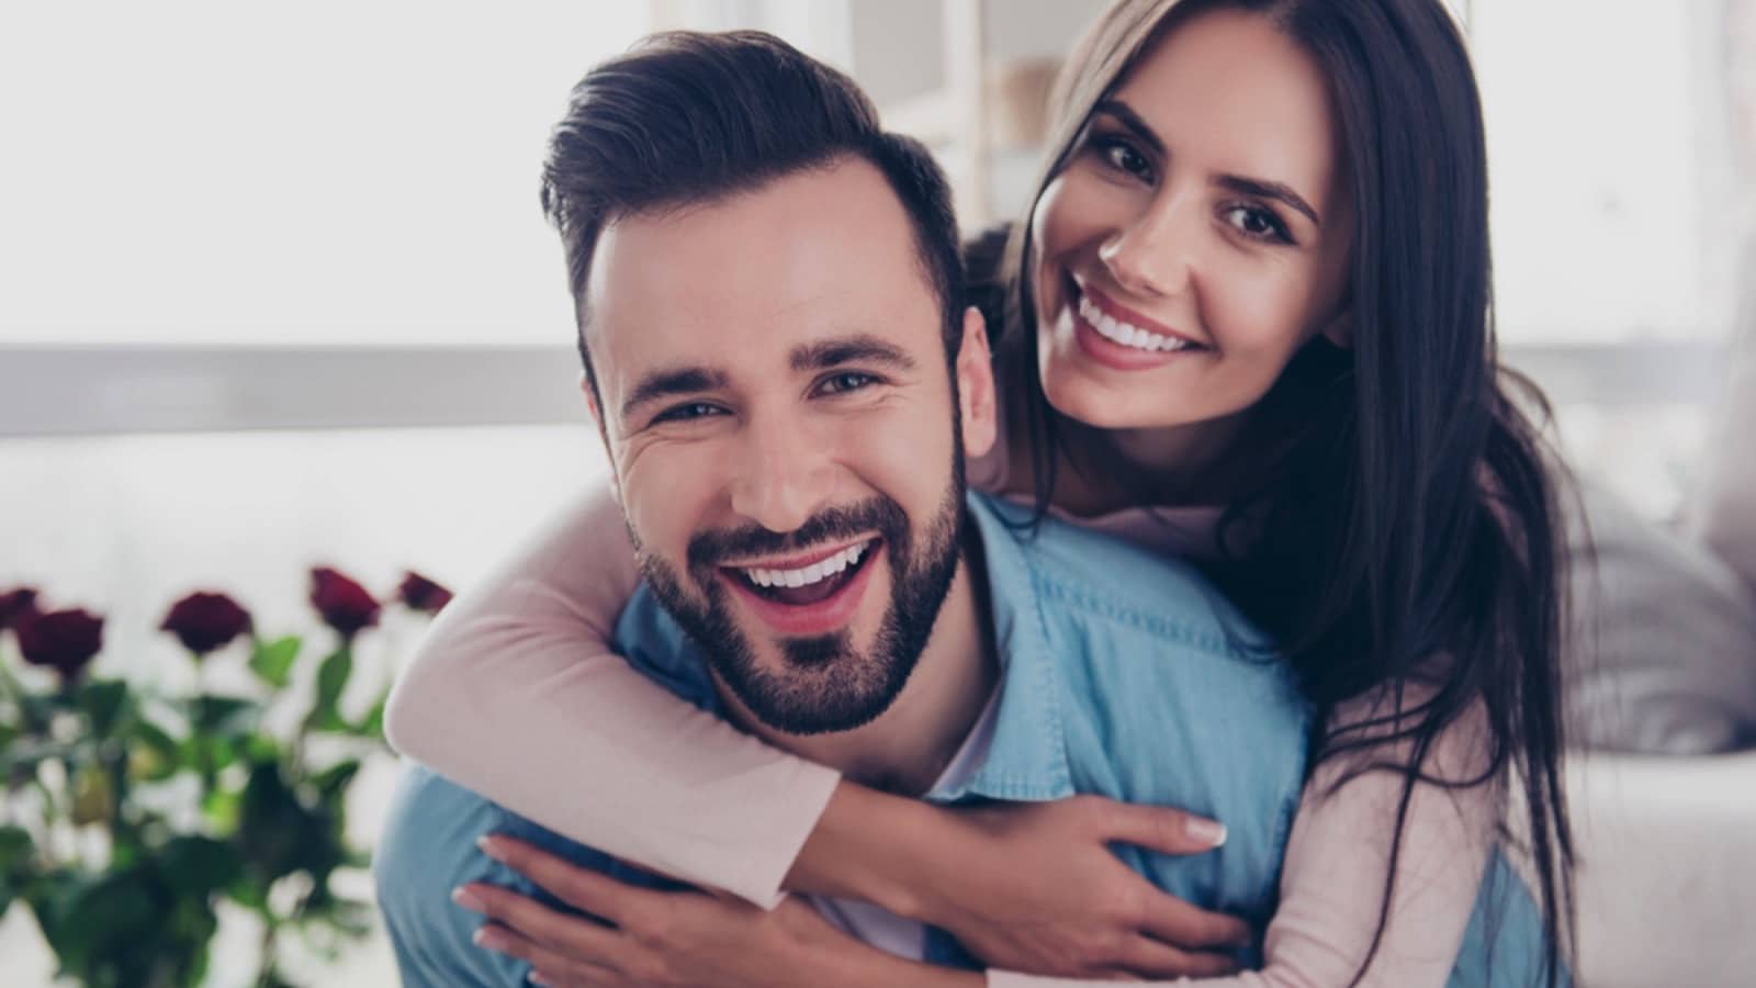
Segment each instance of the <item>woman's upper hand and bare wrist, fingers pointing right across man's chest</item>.
[{"label": "woman's upper hand and bare wrist, fingers pointing right across man's chest", "polygon": [[946,810],[843,782],[787,886],[943,926],[990,967],[1208,977],[1236,970],[1250,926],[1166,895],[1110,844],[1201,854],[1224,839],[1213,821],[1101,796]]}]

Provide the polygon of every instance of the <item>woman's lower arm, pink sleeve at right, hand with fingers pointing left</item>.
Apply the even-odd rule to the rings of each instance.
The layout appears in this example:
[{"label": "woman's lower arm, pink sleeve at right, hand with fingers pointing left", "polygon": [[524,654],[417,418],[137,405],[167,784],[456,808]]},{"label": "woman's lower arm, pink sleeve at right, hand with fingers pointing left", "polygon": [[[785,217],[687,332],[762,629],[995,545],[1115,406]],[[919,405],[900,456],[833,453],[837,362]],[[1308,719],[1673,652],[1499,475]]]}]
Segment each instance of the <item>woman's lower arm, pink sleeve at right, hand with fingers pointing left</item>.
[{"label": "woman's lower arm, pink sleeve at right, hand with fingers pointing left", "polygon": [[[1429,770],[1447,779],[1470,777],[1468,770],[1479,761],[1479,735],[1463,723],[1440,738]],[[1343,768],[1340,763],[1324,766],[1313,786],[1306,788],[1287,847],[1284,898],[1268,928],[1264,967],[1233,977],[1150,984],[1331,988],[1352,983],[1378,926],[1391,823],[1401,784],[1394,775],[1373,774],[1326,796],[1324,786],[1340,779]],[[1085,800],[1083,805],[1099,809],[1101,803]],[[1038,809],[1041,807],[1011,807],[997,816],[1029,819]],[[1359,984],[1440,988],[1449,981],[1493,846],[1496,812],[1493,786],[1456,793],[1431,784],[1417,786],[1396,891],[1389,904],[1391,919]],[[585,983],[594,986],[968,984],[966,972],[878,955],[831,930],[799,900],[788,900],[781,909],[764,914],[697,893],[627,886],[518,840],[495,839],[488,847],[497,860],[564,902],[613,923],[606,928],[565,916],[515,891],[486,884],[460,890],[458,902],[483,912],[488,921],[483,946],[529,960],[553,984],[576,983],[569,974],[578,972],[588,972]],[[788,960],[776,967],[776,958]],[[831,970],[834,976],[827,974]],[[1110,965],[1103,970],[1103,976],[1080,977],[989,970],[987,984],[1094,988],[1108,984],[1117,974],[1140,974],[1138,965]]]}]

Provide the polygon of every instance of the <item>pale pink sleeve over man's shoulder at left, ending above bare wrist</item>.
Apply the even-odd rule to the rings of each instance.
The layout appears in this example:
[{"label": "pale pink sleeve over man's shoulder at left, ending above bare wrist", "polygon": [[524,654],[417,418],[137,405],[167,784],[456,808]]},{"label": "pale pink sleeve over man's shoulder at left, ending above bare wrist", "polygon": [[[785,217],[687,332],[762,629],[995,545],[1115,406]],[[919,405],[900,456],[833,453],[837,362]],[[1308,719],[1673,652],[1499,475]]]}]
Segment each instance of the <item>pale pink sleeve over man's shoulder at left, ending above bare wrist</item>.
[{"label": "pale pink sleeve over man's shoulder at left, ending above bare wrist", "polygon": [[557,833],[773,905],[839,775],[611,652],[637,580],[622,508],[594,492],[439,614],[390,744]]}]

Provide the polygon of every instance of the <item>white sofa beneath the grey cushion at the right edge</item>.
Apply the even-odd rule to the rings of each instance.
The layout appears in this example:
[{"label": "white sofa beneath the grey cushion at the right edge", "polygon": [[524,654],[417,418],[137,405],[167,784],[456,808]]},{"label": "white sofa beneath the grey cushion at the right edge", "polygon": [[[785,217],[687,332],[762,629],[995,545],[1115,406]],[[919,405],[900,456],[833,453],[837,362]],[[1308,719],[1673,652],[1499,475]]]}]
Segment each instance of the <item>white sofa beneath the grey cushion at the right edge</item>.
[{"label": "white sofa beneath the grey cushion at the right edge", "polygon": [[[1756,239],[1744,271],[1756,272]],[[1742,302],[1709,447],[1714,452],[1686,533],[1756,596],[1756,281],[1745,285]],[[1645,621],[1680,628],[1679,636],[1696,643],[1705,642],[1700,628],[1707,615],[1723,615],[1726,607],[1724,594],[1703,607],[1680,589],[1651,592],[1661,608],[1675,607],[1647,610]],[[1658,657],[1673,666],[1707,665],[1702,656]],[[1742,719],[1738,740],[1756,742],[1747,719],[1747,705],[1756,701],[1747,686],[1756,647],[1723,645],[1707,657],[1717,665],[1642,679],[1647,687],[1673,691],[1680,703],[1670,712],[1696,703],[1695,724],[1675,730],[1670,724],[1679,717],[1658,721],[1659,735],[1684,740],[1670,751],[1686,751],[1688,738],[1707,744],[1719,730],[1710,723],[1726,716]],[[1709,724],[1707,733],[1700,724]],[[1568,782],[1580,861],[1579,986],[1756,988],[1756,751],[1587,752],[1575,758]]]}]

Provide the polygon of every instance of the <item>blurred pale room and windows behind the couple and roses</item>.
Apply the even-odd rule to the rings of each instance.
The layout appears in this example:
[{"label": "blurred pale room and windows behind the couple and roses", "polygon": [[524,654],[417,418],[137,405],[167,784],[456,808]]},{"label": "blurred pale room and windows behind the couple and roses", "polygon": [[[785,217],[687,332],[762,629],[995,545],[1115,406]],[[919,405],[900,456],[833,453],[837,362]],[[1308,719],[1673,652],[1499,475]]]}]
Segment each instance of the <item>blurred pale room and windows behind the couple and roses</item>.
[{"label": "blurred pale room and windows behind the couple and roses", "polygon": [[[1666,524],[1737,311],[1747,5],[1452,5],[1487,113],[1501,343],[1572,462]],[[1047,83],[1101,7],[5,5],[0,589],[102,614],[98,668],[174,684],[190,663],[156,628],[188,591],[297,631],[313,564],[381,594],[409,568],[467,585],[604,471],[536,195],[594,62],[655,28],[776,32],[925,139],[975,230],[1020,214]],[[392,622],[362,663],[388,675],[418,633]],[[363,844],[383,796],[355,786]],[[248,946],[223,928],[207,983],[248,983]],[[0,983],[53,970],[11,909]],[[302,983],[388,984],[393,965],[374,935]]]}]

